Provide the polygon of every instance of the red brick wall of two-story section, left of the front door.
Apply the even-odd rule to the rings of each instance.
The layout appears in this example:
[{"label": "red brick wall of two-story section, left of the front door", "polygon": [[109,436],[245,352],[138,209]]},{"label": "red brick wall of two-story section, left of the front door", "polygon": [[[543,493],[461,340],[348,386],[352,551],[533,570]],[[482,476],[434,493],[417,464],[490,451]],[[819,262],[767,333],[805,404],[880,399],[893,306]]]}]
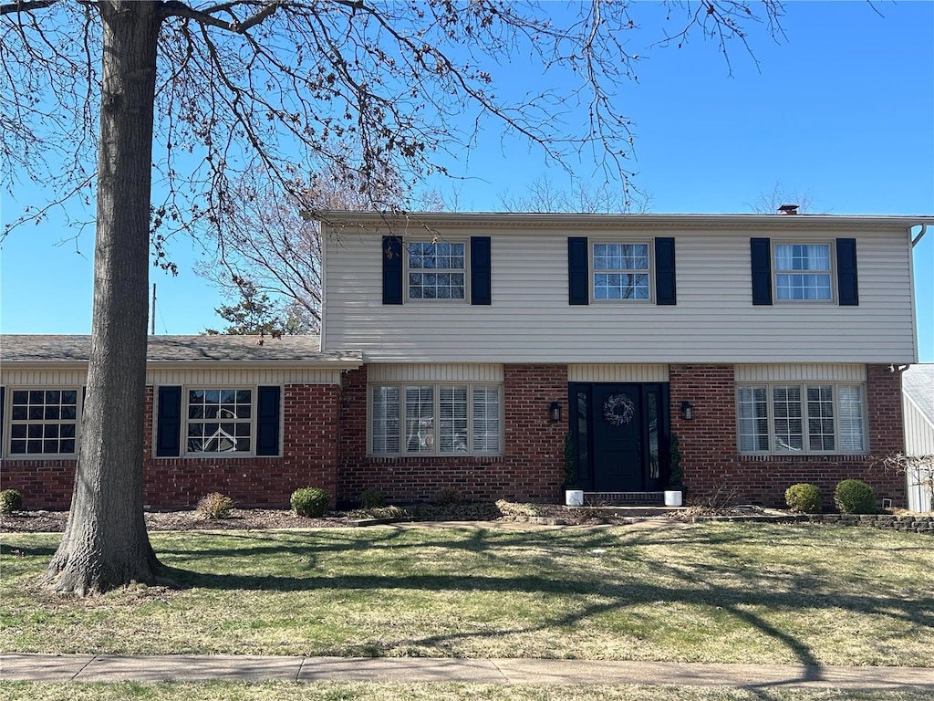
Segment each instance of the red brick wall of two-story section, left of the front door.
[{"label": "red brick wall of two-story section, left of the front door", "polygon": [[341,398],[338,501],[357,503],[364,489],[390,501],[433,501],[453,487],[469,500],[555,502],[563,479],[566,422],[548,421],[559,401],[567,417],[565,365],[505,365],[505,443],[496,457],[375,458],[366,454],[366,368],[345,376]]}]

